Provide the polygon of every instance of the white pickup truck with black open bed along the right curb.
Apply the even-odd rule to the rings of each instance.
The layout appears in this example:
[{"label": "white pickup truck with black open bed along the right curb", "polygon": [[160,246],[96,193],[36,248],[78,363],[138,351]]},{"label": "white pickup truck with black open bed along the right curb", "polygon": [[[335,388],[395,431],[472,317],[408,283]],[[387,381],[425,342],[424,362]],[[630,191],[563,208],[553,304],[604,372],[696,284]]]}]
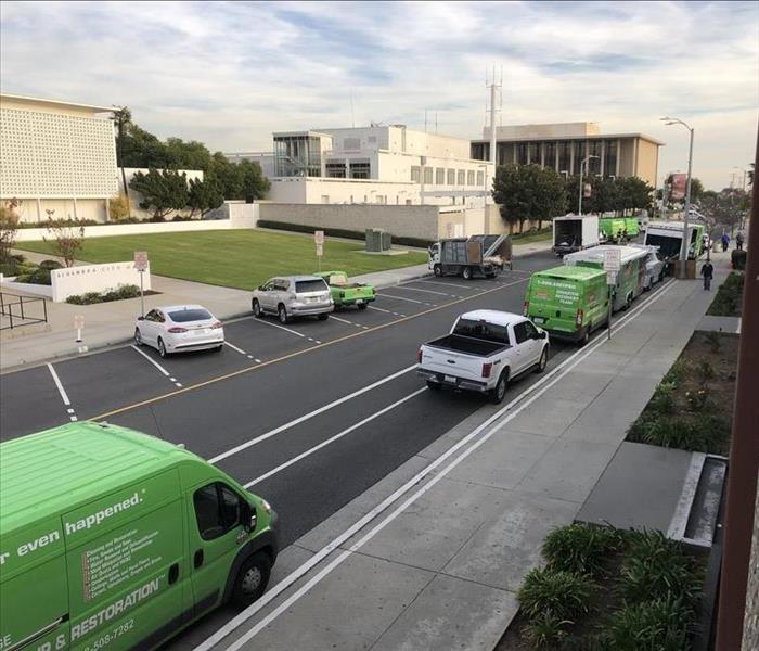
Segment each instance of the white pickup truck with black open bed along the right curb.
[{"label": "white pickup truck with black open bed along the right curb", "polygon": [[465,388],[501,403],[511,380],[549,359],[549,335],[529,319],[494,309],[461,315],[450,334],[423,344],[416,372],[427,386]]}]

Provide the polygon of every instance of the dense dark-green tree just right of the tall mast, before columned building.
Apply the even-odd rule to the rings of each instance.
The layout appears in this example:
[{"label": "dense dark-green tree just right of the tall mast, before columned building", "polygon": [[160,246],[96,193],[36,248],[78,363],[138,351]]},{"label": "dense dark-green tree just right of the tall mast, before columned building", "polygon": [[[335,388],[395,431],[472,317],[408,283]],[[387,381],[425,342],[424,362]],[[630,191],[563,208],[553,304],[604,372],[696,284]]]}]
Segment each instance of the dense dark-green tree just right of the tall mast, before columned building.
[{"label": "dense dark-green tree just right of the tall mast, before columned building", "polygon": [[540,165],[506,165],[499,167],[493,180],[493,201],[501,206],[501,217],[513,231],[525,220],[542,221],[563,214],[566,191],[561,175]]}]

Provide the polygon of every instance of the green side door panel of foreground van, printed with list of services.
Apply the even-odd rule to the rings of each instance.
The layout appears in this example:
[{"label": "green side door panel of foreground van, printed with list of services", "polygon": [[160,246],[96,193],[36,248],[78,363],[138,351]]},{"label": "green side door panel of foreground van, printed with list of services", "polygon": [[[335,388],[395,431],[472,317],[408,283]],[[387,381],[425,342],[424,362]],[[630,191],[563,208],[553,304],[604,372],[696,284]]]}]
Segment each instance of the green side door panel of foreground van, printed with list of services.
[{"label": "green side door panel of foreground van, printed with list of services", "polygon": [[190,617],[179,472],[62,516],[75,649],[151,648]]}]

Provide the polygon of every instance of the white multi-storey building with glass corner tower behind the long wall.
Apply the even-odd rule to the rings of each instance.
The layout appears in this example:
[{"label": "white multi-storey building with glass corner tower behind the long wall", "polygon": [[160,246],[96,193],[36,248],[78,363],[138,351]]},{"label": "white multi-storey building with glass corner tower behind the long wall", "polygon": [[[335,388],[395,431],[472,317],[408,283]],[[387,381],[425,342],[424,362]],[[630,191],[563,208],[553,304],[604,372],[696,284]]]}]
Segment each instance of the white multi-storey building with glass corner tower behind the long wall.
[{"label": "white multi-storey building with glass corner tower behind the long wall", "polygon": [[259,162],[276,203],[492,203],[493,168],[471,158],[468,140],[390,125],[278,132],[273,144],[271,154],[226,155]]}]

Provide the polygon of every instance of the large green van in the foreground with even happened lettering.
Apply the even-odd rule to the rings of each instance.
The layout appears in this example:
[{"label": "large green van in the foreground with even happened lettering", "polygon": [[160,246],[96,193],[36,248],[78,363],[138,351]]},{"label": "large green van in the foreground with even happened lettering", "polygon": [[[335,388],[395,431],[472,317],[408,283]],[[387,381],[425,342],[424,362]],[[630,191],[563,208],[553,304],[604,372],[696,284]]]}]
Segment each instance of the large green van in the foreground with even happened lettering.
[{"label": "large green van in the foreground with even happened lettering", "polygon": [[0,649],[152,649],[266,589],[276,515],[182,447],[70,423],[0,444]]}]

